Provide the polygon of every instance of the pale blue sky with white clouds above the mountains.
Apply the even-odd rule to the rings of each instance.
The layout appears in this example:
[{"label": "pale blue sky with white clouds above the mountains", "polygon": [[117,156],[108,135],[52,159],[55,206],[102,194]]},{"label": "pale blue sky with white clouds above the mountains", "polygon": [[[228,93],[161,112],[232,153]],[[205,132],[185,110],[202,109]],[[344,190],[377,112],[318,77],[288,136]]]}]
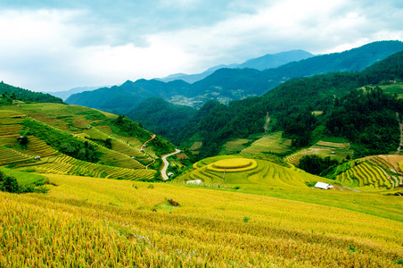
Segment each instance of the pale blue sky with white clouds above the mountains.
[{"label": "pale blue sky with white clouds above the mountains", "polygon": [[36,91],[403,40],[401,0],[0,0],[0,80]]}]

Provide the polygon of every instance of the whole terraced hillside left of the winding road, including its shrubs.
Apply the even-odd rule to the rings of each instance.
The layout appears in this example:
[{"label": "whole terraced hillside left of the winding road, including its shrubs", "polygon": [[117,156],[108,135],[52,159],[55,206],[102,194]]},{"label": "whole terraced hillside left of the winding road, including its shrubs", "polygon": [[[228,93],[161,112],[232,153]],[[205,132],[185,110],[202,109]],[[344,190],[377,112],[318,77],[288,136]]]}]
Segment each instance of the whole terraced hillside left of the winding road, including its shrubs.
[{"label": "whole terraced hillside left of the winding road, including its shrubs", "polygon": [[[35,173],[152,180],[161,149],[146,130],[127,135],[118,116],[61,104],[0,107],[0,165]],[[137,130],[136,130],[137,131]],[[141,137],[140,137],[141,136]],[[158,169],[157,169],[158,170]]]}]

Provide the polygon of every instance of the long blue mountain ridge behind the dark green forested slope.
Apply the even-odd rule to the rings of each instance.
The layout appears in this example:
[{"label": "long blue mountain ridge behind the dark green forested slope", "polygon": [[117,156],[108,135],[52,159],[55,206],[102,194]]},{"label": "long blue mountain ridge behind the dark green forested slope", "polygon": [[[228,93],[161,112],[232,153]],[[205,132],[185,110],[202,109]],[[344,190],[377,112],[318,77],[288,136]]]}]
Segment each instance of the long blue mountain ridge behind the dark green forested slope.
[{"label": "long blue mountain ridge behind the dark green forested slope", "polygon": [[200,108],[211,99],[228,104],[245,97],[261,96],[271,88],[297,77],[310,77],[331,71],[362,71],[391,54],[403,50],[400,41],[380,41],[348,51],[324,54],[277,68],[256,69],[221,68],[203,80],[186,83],[175,80],[168,83],[158,80],[127,81],[123,85],[100,88],[70,96],[71,105],[85,105],[111,113],[128,113],[150,96]]}]

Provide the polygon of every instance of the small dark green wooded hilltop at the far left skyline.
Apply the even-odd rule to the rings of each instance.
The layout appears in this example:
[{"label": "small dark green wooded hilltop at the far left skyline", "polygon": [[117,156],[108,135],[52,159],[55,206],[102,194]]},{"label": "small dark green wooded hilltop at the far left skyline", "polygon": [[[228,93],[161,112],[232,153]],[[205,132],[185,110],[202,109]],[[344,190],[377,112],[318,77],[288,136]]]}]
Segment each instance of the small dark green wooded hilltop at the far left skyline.
[{"label": "small dark green wooded hilltop at the far left skyline", "polygon": [[58,103],[62,104],[61,98],[45,93],[33,92],[24,88],[16,88],[11,85],[0,82],[0,104],[10,105],[12,101],[21,100],[23,102],[36,103]]}]

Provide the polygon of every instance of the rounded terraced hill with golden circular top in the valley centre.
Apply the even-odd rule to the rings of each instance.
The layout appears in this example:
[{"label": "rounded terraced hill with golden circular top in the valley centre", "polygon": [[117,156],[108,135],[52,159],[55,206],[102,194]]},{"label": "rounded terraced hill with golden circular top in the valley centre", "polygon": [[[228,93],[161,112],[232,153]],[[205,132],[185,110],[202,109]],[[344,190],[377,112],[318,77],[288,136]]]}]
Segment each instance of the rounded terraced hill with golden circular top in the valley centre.
[{"label": "rounded terraced hill with golden circular top in the valley centre", "polygon": [[201,180],[204,185],[248,188],[308,188],[318,180],[332,182],[294,168],[269,155],[223,155],[193,164],[175,181]]}]

